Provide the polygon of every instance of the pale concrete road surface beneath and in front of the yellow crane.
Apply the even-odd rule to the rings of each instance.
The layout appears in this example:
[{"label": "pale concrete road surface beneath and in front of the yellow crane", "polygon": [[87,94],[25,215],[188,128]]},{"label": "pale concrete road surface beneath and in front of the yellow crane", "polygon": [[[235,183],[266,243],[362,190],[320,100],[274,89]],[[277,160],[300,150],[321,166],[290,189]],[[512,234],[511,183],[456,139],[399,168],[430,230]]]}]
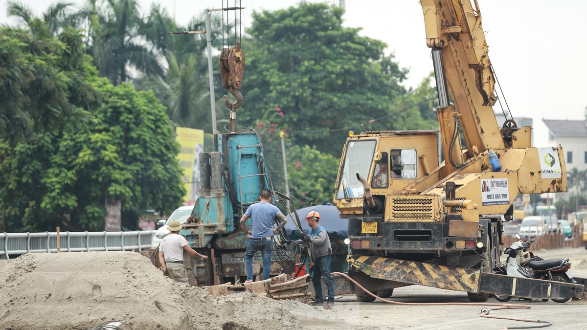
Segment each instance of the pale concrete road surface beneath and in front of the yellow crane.
[{"label": "pale concrete road surface beneath and in front of the yellow crane", "polygon": [[[583,248],[538,251],[545,258],[570,258],[579,269],[573,269],[578,277],[587,277]],[[402,302],[463,302],[470,303],[466,292],[413,285],[394,289],[391,300]],[[544,325],[534,322],[519,322],[504,319],[482,318],[481,308],[492,308],[489,304],[501,304],[489,298],[481,305],[407,306],[387,304],[381,301],[358,302],[355,295],[344,295],[337,299],[335,308],[319,310],[321,317],[299,315],[305,329],[504,329],[517,326]],[[490,315],[515,318],[539,319],[552,322],[545,329],[587,329],[587,298],[572,299],[565,304],[553,301],[526,301],[512,298],[507,304],[530,305],[530,309],[508,309],[492,311]],[[323,316],[323,317],[322,317]]]}]

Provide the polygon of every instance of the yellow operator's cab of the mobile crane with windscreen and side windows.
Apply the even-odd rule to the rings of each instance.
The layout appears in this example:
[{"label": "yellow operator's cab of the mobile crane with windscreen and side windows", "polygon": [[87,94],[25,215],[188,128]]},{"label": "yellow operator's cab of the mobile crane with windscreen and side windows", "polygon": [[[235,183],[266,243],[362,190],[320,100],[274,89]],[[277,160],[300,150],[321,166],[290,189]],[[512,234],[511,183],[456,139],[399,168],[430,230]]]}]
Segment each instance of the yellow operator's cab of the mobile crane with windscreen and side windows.
[{"label": "yellow operator's cab of the mobile crane with windscreen and side windows", "polygon": [[341,214],[362,215],[367,179],[373,197],[384,198],[438,167],[436,130],[362,132],[346,140],[334,201]]}]

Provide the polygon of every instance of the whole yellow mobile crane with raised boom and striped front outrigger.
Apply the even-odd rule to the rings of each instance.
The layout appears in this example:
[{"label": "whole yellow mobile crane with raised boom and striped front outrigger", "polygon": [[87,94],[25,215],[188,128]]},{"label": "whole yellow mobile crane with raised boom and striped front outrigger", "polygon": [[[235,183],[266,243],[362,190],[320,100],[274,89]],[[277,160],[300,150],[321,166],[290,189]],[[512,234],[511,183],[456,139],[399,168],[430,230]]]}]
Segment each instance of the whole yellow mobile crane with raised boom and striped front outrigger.
[{"label": "whole yellow mobile crane with raised boom and striped front outrigger", "polygon": [[[334,201],[341,217],[350,218],[350,277],[379,297],[410,284],[466,291],[471,301],[492,293],[581,296],[582,285],[492,274],[515,197],[566,190],[562,147],[531,147],[531,127],[513,120],[498,126],[477,1],[474,7],[470,0],[420,4],[444,161],[439,164],[437,131],[349,133]],[[353,285],[351,291],[360,301],[374,299]]]}]

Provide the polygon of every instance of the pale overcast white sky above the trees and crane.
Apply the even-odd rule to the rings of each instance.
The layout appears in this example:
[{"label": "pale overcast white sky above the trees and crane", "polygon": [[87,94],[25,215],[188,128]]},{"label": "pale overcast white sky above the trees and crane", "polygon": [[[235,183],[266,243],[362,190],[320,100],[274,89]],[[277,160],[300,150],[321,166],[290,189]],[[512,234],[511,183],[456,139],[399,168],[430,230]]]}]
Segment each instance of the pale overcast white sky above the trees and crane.
[{"label": "pale overcast white sky above the trees and crane", "polygon": [[[6,1],[0,0],[0,23]],[[48,0],[21,0],[37,14]],[[76,4],[83,0],[69,0]],[[138,1],[144,11],[160,2],[179,23],[207,8],[221,8],[221,0]],[[252,11],[275,10],[299,0],[242,0],[245,27]],[[338,0],[312,1],[337,4]],[[422,9],[417,0],[346,0],[345,26],[362,28],[362,35],[387,43],[403,68],[410,69],[406,86],[417,86],[432,70],[426,46]],[[239,0],[237,0],[237,5]],[[224,1],[226,4],[226,1]],[[234,5],[234,0],[228,2]],[[514,117],[534,120],[534,146],[547,146],[542,119],[585,119],[587,107],[587,29],[583,0],[478,0],[491,63]],[[246,49],[244,49],[246,56]],[[245,73],[246,74],[246,73]],[[245,96],[246,97],[246,96]],[[500,123],[501,124],[501,123]],[[342,142],[341,142],[342,143]]]}]

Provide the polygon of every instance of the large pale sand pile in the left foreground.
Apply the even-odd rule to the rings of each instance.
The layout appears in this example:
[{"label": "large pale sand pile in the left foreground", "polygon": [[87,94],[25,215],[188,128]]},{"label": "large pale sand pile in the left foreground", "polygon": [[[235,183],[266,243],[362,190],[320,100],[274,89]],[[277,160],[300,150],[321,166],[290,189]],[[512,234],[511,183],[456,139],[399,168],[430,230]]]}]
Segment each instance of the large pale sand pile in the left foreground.
[{"label": "large pale sand pile in the left foreground", "polygon": [[109,320],[133,329],[299,328],[318,317],[299,302],[255,294],[211,297],[163,277],[135,252],[25,254],[0,269],[7,329],[90,329]]}]

